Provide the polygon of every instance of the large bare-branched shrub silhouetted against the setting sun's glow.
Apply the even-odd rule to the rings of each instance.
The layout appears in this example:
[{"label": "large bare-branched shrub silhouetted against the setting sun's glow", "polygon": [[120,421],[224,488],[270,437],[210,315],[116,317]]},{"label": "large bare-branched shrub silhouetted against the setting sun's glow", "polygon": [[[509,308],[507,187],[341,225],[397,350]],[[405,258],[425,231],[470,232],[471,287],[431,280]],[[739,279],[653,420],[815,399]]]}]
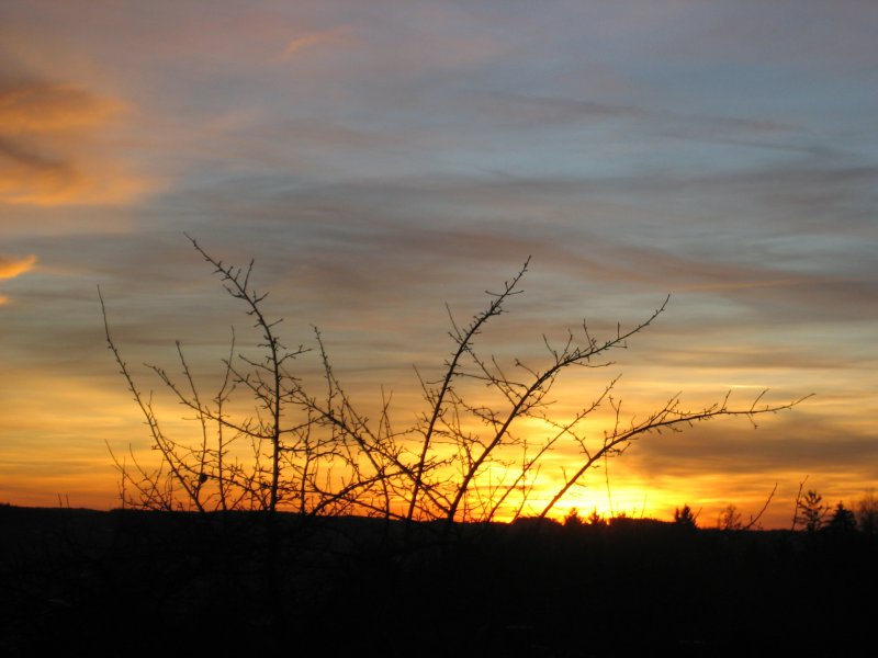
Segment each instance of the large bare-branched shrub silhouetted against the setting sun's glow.
[{"label": "large bare-branched shrub silhouetted against the setting sun's glow", "polygon": [[[804,399],[769,405],[763,402],[763,392],[735,407],[727,394],[716,404],[688,409],[673,396],[635,418],[622,411],[615,394],[617,377],[572,415],[554,413],[556,397],[550,392],[563,375],[574,366],[611,364],[608,355],[627,348],[628,339],[664,311],[667,299],[641,322],[619,326],[607,338],[594,337],[583,322],[559,344],[543,337],[542,362],[515,359],[504,363],[484,355],[477,341],[485,325],[504,315],[521,293],[529,268],[526,261],[498,292],[487,293],[485,307],[469,324],[451,317],[452,350],[443,374],[435,381],[420,379],[425,410],[414,426],[397,430],[389,397],[382,399],[376,415],[353,404],[316,329],[311,348],[291,349],[282,342],[281,320],[266,315],[267,295],[255,287],[252,261],[243,269],[227,265],[189,239],[226,293],[243,304],[260,339],[255,354],[252,348],[249,353],[239,352],[233,331],[212,395],[201,392],[179,342],[182,377],[149,366],[195,421],[194,439],[171,436],[158,418],[153,394],[142,392],[123,360],[101,296],[108,347],[146,419],[159,457],[158,463],[149,463],[130,451],[128,461],[111,450],[125,507],[270,514],[283,509],[303,517],[379,515],[408,523],[514,520],[534,512],[545,518],[600,460],[622,454],[640,438],[727,416],[753,422],[756,416],[790,409]],[[313,358],[318,362],[319,382],[294,370],[303,359]],[[241,411],[246,398],[251,407]],[[586,420],[604,408],[611,412],[609,426],[601,434],[592,428],[586,432]],[[539,428],[536,432],[534,427]],[[558,473],[558,488],[537,500],[534,484],[550,468],[547,456],[561,449],[578,456]],[[691,510],[686,519],[694,524]]]}]

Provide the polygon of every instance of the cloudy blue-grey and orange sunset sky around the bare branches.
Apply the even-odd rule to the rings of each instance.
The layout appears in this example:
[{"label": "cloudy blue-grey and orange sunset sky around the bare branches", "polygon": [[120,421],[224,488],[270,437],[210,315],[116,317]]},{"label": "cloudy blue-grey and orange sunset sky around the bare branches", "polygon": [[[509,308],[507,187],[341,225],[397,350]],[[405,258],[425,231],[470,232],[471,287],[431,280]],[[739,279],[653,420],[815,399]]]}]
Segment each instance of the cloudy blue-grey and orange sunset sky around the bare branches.
[{"label": "cloudy blue-grey and orange sunset sky around the bare branches", "polygon": [[484,353],[536,360],[669,294],[564,395],[814,396],[643,438],[559,513],[712,525],[777,485],[781,527],[802,481],[855,504],[878,483],[876,25],[871,0],[4,1],[0,501],[109,509],[109,447],[148,454],[98,286],[145,390],[176,340],[218,376],[249,319],[188,234],[254,259],[283,338],[317,326],[402,424],[413,366],[453,348],[446,305],[466,320],[528,257]]}]

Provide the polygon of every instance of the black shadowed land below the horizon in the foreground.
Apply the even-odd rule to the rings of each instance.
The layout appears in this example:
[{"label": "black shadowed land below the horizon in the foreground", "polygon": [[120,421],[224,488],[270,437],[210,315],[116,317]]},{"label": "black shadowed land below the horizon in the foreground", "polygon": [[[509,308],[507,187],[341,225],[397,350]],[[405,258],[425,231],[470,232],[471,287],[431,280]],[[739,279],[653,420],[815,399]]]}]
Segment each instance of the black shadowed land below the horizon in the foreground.
[{"label": "black shadowed land below the horizon in the foreground", "polygon": [[[874,536],[0,508],[0,655],[844,656]],[[865,647],[860,648],[860,644]]]}]

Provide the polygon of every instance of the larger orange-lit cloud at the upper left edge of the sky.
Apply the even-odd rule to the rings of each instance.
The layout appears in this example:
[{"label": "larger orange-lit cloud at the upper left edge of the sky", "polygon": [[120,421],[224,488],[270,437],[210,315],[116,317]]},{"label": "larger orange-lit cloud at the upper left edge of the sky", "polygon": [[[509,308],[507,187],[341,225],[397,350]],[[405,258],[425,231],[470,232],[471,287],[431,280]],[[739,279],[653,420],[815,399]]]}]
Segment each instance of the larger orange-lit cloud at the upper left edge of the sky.
[{"label": "larger orange-lit cloud at the upper left edge of the sky", "polygon": [[0,203],[119,204],[148,188],[102,155],[124,107],[71,84],[0,83]]}]

